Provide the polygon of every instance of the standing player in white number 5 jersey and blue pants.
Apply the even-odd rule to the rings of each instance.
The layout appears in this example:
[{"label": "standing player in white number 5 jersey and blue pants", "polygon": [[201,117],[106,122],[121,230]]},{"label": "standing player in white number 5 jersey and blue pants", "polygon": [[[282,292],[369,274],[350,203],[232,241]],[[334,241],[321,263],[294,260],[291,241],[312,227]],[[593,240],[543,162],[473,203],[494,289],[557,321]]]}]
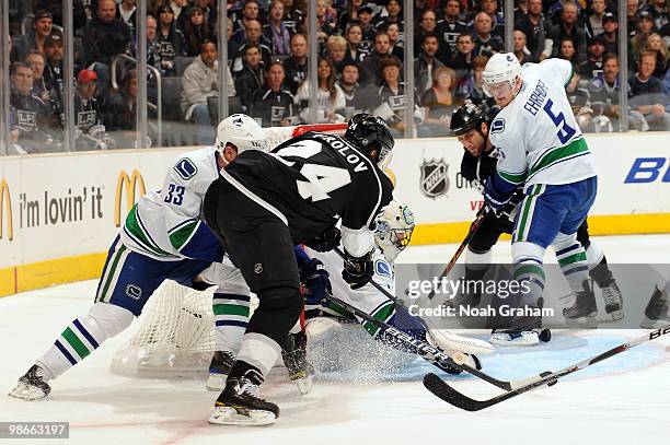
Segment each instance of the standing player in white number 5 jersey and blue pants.
[{"label": "standing player in white number 5 jersey and blue pants", "polygon": [[[597,314],[586,254],[577,241],[577,229],[596,199],[597,175],[565,93],[571,74],[571,65],[562,59],[520,67],[508,52],[488,60],[484,89],[501,110],[490,125],[498,163],[485,181],[484,197],[497,211],[523,185],[511,249],[515,278],[527,280],[531,292],[521,294],[520,307],[525,314],[542,307],[544,250],[553,245],[576,295],[564,317],[579,323]],[[515,328],[494,333],[492,342],[538,343],[541,324],[540,315],[517,317]]]}]

